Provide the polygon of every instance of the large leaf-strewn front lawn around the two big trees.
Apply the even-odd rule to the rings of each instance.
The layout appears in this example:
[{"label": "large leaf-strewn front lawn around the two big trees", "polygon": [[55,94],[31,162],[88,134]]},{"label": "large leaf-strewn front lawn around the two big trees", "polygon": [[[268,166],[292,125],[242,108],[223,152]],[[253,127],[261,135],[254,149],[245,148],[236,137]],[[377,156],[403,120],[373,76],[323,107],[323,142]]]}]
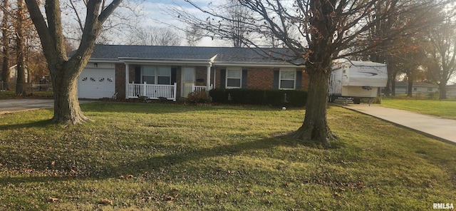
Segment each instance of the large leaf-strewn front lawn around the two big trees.
[{"label": "large leaf-strewn front lawn around the two big trees", "polygon": [[[431,210],[456,203],[456,146],[338,106],[324,150],[304,110],[152,103],[0,116],[0,210]],[[57,199],[51,202],[49,198]],[[103,203],[102,200],[108,200]]]}]

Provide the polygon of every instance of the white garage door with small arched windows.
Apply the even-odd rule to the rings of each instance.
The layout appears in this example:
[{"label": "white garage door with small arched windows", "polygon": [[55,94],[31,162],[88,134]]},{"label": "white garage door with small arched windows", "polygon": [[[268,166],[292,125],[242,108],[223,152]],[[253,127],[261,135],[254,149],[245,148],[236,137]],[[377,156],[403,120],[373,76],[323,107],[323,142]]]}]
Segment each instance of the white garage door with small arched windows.
[{"label": "white garage door with small arched windows", "polygon": [[112,98],[115,69],[85,68],[78,78],[78,98]]}]

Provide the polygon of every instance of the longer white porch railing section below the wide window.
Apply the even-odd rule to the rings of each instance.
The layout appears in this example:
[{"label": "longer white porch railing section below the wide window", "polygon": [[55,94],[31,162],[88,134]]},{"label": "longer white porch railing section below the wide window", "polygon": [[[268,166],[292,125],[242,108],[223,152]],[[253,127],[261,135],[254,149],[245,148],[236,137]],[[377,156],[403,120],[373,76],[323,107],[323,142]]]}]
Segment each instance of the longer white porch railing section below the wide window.
[{"label": "longer white porch railing section below the wide window", "polygon": [[150,99],[167,98],[176,101],[177,85],[155,85],[147,83],[128,83],[128,98],[145,96]]}]

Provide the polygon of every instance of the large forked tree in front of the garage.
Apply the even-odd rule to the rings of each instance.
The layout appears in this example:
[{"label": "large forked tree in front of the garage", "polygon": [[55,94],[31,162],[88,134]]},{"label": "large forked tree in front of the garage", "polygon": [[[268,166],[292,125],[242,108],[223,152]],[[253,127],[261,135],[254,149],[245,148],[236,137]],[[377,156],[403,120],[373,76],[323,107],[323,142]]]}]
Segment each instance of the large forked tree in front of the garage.
[{"label": "large forked tree in front of the garage", "polygon": [[110,3],[100,0],[88,0],[86,20],[84,21],[81,43],[71,58],[66,53],[66,43],[61,24],[61,5],[58,0],[46,0],[44,5],[46,19],[41,14],[38,0],[26,0],[33,24],[38,31],[48,62],[51,81],[54,88],[55,123],[84,123],[89,119],[79,107],[77,79],[88,63],[95,40],[100,34],[103,23],[113,13],[122,0]]}]

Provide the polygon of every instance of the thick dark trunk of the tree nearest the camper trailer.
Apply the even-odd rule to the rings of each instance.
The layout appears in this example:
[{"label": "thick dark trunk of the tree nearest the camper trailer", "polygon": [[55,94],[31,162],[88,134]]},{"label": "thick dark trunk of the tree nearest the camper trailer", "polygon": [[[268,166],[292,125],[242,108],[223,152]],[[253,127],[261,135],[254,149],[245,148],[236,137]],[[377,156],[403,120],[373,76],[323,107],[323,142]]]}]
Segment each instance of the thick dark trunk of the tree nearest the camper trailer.
[{"label": "thick dark trunk of the tree nearest the camper trailer", "polygon": [[316,140],[325,148],[331,147],[331,140],[337,138],[331,132],[326,122],[326,106],[328,96],[329,77],[331,76],[331,62],[310,64],[306,71],[309,73],[309,91],[307,93],[306,115],[304,123],[294,137],[304,141]]}]

